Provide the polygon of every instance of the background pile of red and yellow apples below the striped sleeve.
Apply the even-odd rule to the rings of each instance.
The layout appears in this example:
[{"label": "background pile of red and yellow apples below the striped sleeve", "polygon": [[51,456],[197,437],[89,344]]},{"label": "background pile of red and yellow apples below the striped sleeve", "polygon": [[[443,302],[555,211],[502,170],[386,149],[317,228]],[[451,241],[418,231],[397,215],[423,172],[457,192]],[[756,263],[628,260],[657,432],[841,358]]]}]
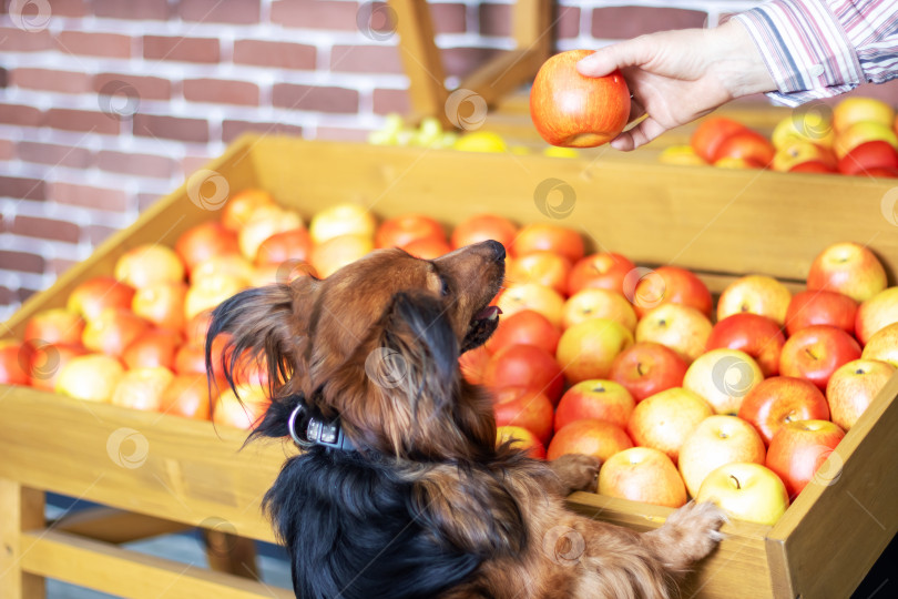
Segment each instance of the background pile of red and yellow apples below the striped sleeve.
[{"label": "background pile of red and yellow apples below the striped sleeve", "polygon": [[732,119],[703,121],[690,145],[665,149],[671,164],[713,164],[797,173],[898,177],[898,119],[895,109],[871,98],[849,98],[828,106],[795,110],[768,140]]}]

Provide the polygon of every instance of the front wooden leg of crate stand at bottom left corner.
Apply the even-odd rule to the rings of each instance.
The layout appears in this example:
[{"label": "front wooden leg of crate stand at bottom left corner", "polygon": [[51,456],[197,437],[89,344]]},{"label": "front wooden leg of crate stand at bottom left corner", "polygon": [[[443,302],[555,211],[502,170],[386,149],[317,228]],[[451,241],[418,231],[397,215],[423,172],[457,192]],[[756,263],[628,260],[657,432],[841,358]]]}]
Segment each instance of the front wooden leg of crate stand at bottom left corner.
[{"label": "front wooden leg of crate stand at bottom left corner", "polygon": [[43,577],[21,568],[22,531],[43,525],[43,491],[0,478],[0,597],[43,599]]}]

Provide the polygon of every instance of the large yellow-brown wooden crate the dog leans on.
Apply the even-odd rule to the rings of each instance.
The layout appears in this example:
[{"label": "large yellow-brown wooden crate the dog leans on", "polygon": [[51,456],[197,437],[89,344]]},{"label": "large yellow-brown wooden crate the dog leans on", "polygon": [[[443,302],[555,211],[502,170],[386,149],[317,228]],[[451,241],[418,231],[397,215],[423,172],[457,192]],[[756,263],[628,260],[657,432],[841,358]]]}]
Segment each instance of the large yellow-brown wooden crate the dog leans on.
[{"label": "large yellow-brown wooden crate the dog leans on", "polygon": [[[521,223],[550,221],[534,193],[554,179],[552,185],[570,186],[575,204],[553,222],[581,231],[591,250],[695,270],[712,291],[745,273],[771,274],[797,286],[824,246],[845,240],[877,252],[892,283],[898,274],[898,227],[887,219],[890,206],[882,199],[890,186],[882,181],[676,167],[611,156],[468,154],[247,135],[208,170],[232,193],[261,186],[305,215],[354,201],[382,217],[421,211],[447,225],[483,211]],[[190,195],[181,187],[160,201],[27,302],[8,323],[11,334],[20,336],[35,312],[63,305],[79,282],[109,274],[126,250],[147,242],[171,245],[187,227],[216,217]],[[774,527],[727,524],[726,539],[691,578],[690,592],[707,598],[848,596],[898,529],[896,396],[898,376],[829,458],[825,467],[839,475],[830,485],[812,484]],[[133,446],[121,445],[133,434],[145,439],[145,460],[133,456]],[[210,423],[0,388],[0,596],[39,597],[44,576],[126,597],[289,596],[48,529],[43,522],[42,491],[53,490],[194,526],[224,520],[242,536],[272,540],[259,501],[292,449],[275,443],[238,450],[243,437]],[[570,504],[640,529],[660,526],[671,512],[582,493]]]}]

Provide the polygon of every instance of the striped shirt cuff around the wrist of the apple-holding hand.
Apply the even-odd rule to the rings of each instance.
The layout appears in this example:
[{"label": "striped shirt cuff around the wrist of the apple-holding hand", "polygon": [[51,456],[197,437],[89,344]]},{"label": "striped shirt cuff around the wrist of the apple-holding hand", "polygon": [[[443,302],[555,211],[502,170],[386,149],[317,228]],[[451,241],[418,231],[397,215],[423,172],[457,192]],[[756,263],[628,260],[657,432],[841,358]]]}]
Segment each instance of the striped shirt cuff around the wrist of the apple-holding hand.
[{"label": "striped shirt cuff around the wrist of the apple-holding hand", "polygon": [[776,0],[736,14],[776,83],[772,99],[798,105],[844,93],[866,78],[839,21],[815,0]]}]

